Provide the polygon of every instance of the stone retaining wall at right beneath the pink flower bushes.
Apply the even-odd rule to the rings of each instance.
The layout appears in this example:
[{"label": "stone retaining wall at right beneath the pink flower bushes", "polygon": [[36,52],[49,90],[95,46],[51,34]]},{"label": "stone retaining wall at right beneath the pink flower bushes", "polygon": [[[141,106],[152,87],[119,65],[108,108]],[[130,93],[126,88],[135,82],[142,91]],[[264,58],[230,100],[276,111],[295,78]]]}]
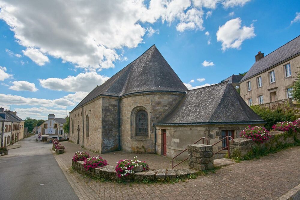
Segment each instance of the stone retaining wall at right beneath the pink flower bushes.
[{"label": "stone retaining wall at right beneath the pink flower bushes", "polygon": [[234,142],[229,142],[231,157],[241,156],[244,157],[253,149],[265,149],[265,151],[271,148],[282,147],[287,144],[295,144],[297,140],[300,140],[300,133],[288,133],[282,131],[270,132],[271,138],[264,143],[256,143],[251,139],[238,138],[234,139]]}]

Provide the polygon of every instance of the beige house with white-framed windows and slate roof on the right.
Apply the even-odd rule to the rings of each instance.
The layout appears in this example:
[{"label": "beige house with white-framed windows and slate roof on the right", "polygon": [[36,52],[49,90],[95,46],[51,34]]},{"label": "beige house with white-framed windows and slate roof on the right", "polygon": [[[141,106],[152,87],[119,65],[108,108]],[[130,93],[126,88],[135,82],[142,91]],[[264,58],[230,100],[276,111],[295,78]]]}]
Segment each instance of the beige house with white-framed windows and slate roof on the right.
[{"label": "beige house with white-framed windows and slate roof on the right", "polygon": [[240,81],[241,97],[248,105],[292,98],[291,84],[300,67],[300,36],[268,55],[258,52],[255,63]]}]

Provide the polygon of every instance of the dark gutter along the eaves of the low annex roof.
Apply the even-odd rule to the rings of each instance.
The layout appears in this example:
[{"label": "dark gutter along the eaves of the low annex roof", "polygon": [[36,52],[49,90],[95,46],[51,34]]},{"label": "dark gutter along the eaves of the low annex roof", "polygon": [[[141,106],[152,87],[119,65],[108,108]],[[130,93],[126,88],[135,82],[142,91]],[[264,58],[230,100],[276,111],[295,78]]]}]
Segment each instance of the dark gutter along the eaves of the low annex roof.
[{"label": "dark gutter along the eaves of the low annex roof", "polygon": [[212,121],[212,122],[188,122],[188,123],[157,123],[153,124],[153,126],[156,125],[209,125],[209,124],[265,124],[266,121],[263,120],[256,120],[256,121]]}]

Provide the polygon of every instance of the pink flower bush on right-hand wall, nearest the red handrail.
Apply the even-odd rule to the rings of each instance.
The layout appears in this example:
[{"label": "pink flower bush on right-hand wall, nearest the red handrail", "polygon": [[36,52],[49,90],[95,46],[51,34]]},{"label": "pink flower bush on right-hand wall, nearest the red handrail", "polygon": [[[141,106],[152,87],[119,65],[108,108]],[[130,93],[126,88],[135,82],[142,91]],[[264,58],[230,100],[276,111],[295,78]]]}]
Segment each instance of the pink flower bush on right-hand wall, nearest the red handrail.
[{"label": "pink flower bush on right-hand wall, nearest the red handrail", "polygon": [[248,127],[241,132],[241,137],[252,139],[254,142],[263,143],[271,138],[269,131],[264,127]]}]

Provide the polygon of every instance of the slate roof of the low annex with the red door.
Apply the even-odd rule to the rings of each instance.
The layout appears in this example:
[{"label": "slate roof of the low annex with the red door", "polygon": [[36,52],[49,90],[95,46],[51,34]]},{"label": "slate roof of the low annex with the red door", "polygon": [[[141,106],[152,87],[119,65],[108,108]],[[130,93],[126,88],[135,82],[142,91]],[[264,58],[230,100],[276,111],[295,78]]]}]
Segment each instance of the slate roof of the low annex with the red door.
[{"label": "slate roof of the low annex with the red door", "polygon": [[264,124],[229,82],[187,91],[158,124]]}]

